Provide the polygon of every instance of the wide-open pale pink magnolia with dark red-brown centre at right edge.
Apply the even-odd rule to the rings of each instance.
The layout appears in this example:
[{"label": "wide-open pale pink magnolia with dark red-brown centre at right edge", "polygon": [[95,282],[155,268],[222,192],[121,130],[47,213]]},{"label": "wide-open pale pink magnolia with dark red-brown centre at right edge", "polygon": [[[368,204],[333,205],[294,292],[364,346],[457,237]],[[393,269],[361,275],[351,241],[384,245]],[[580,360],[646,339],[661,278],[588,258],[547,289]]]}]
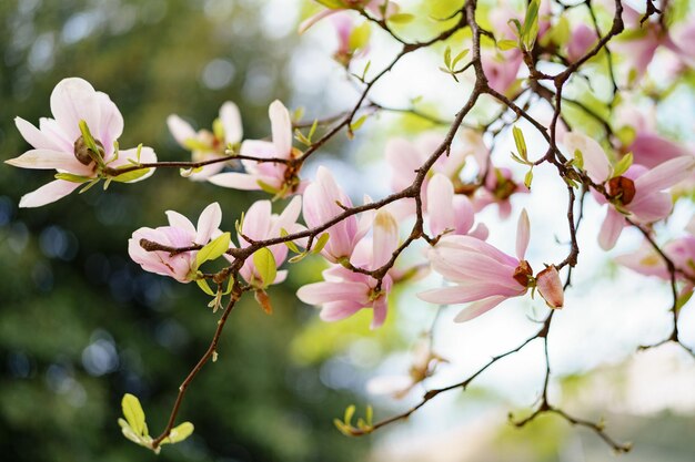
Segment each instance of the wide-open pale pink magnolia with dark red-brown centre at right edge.
[{"label": "wide-open pale pink magnolia with dark red-brown centre at right edge", "polygon": [[[620,176],[613,176],[613,167],[601,145],[581,133],[570,132],[564,136],[570,152],[580,151],[584,168],[596,183],[605,183],[611,207],[606,213],[598,235],[598,244],[604,250],[615,246],[625,217],[638,224],[658,222],[671,214],[673,202],[664,189],[692,178],[695,174],[695,156],[685,155],[664,162],[652,170],[632,165]],[[605,196],[595,194],[601,204],[608,203]]]}]

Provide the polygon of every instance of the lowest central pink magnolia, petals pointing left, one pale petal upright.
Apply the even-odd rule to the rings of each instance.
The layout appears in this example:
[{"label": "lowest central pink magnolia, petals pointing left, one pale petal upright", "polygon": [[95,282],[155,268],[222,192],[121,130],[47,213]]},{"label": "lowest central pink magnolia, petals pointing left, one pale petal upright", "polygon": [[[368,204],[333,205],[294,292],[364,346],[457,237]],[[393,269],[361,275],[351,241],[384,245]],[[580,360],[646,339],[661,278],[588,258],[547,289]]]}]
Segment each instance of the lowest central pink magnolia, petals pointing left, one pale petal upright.
[{"label": "lowest central pink magnolia, petals pointing left, one pale petal upright", "polygon": [[[370,245],[371,244],[371,248]],[[352,264],[373,270],[386,264],[399,246],[397,223],[393,215],[381,209],[374,217],[372,242],[363,239],[353,253]],[[381,290],[377,280],[369,275],[353,273],[340,265],[323,271],[322,283],[309,284],[296,291],[300,300],[308,305],[321,305],[321,319],[336,321],[348,318],[363,308],[374,311],[371,328],[380,327],[386,319],[387,296],[393,278],[386,275]]]}]

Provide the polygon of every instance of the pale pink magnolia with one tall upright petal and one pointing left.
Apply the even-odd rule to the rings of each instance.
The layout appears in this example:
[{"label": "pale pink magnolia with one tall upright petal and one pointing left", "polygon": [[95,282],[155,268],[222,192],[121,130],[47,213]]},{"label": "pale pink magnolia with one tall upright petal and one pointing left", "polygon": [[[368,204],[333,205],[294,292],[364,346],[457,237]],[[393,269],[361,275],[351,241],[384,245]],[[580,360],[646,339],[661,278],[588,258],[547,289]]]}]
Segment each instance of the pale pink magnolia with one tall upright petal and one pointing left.
[{"label": "pale pink magnolia with one tall upright petal and one pointing left", "polygon": [[[241,155],[260,158],[291,160],[301,153],[292,147],[292,122],[288,109],[278,100],[269,107],[272,142],[246,140],[241,145]],[[286,178],[288,165],[275,162],[242,161],[246,173],[225,172],[212,175],[208,181],[218,186],[234,189],[263,189],[285,197],[301,189],[299,179]]]}]

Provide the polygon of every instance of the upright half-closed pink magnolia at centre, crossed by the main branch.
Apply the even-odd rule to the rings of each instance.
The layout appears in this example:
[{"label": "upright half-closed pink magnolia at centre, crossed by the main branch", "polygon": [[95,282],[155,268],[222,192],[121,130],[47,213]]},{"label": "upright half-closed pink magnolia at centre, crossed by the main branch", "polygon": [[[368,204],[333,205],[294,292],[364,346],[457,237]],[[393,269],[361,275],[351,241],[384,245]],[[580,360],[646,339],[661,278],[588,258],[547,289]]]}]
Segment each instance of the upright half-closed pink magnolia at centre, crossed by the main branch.
[{"label": "upright half-closed pink magnolia at centre, crossed by the main branch", "polygon": [[[338,204],[352,207],[352,201],[335,184],[328,168],[319,167],[316,181],[304,191],[303,216],[310,228],[323,225],[344,212]],[[326,232],[331,236],[321,255],[331,263],[350,259],[352,253],[371,225],[371,214],[357,219],[352,215],[331,226]]]}]

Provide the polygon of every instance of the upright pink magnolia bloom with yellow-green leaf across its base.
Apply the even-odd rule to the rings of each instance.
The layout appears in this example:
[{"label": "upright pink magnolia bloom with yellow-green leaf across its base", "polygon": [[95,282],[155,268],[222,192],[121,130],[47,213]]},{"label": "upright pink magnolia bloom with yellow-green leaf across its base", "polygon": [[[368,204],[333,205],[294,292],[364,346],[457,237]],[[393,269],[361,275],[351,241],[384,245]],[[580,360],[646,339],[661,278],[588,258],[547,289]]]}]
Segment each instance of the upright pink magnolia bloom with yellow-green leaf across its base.
[{"label": "upright pink magnolia bloom with yellow-green leaf across its base", "polygon": [[[241,248],[249,247],[251,245],[246,238],[252,242],[264,240],[273,237],[280,237],[282,229],[285,229],[290,234],[301,230],[301,226],[296,224],[296,218],[299,218],[301,209],[302,198],[300,196],[293,197],[280,215],[272,213],[270,201],[255,202],[244,214],[244,220],[241,225],[241,234],[239,235],[239,244]],[[246,238],[244,238],[244,236]],[[288,247],[284,244],[276,244],[268,248],[273,254],[275,267],[282,265],[288,257]],[[234,260],[231,256],[225,255],[224,257],[230,260],[230,263]],[[274,281],[262,281],[262,278],[253,263],[253,258],[246,258],[239,273],[244,280],[251,285],[258,283],[269,286],[270,284],[282,283],[288,277],[286,270],[280,270],[278,271]]]}]

